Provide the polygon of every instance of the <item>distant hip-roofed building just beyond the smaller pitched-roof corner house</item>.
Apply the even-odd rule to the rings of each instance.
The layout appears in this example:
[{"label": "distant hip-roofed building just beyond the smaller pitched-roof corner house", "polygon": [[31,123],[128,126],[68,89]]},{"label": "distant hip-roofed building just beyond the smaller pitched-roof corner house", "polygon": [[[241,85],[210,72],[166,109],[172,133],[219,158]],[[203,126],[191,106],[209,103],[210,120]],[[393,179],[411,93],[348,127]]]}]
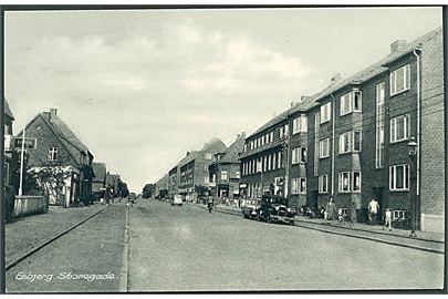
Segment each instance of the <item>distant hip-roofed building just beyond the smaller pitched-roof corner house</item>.
[{"label": "distant hip-roofed building just beyond the smaller pitched-roof corner house", "polygon": [[179,188],[178,192],[185,200],[196,200],[198,188],[209,188],[209,166],[216,153],[226,150],[226,144],[219,138],[212,138],[199,151],[187,153],[178,163]]}]

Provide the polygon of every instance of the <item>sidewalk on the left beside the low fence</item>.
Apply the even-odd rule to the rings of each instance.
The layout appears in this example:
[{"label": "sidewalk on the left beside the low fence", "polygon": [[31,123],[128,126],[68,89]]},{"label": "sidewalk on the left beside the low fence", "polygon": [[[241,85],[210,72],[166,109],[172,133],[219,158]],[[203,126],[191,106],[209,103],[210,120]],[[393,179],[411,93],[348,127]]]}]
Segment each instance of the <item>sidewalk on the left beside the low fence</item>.
[{"label": "sidewalk on the left beside the low fence", "polygon": [[49,213],[17,218],[6,225],[6,265],[13,264],[34,248],[52,240],[73,226],[105,209],[106,206],[62,208],[50,206]]}]

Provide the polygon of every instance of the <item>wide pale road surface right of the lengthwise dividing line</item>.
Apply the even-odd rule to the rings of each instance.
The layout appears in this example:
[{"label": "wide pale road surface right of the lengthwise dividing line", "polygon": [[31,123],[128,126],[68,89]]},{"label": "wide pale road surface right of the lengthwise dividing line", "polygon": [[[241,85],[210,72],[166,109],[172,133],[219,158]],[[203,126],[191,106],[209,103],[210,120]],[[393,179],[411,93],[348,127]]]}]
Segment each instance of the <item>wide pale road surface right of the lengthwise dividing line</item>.
[{"label": "wide pale road surface right of the lengthwise dividing line", "polygon": [[442,288],[444,256],[184,205],[129,217],[129,291]]}]

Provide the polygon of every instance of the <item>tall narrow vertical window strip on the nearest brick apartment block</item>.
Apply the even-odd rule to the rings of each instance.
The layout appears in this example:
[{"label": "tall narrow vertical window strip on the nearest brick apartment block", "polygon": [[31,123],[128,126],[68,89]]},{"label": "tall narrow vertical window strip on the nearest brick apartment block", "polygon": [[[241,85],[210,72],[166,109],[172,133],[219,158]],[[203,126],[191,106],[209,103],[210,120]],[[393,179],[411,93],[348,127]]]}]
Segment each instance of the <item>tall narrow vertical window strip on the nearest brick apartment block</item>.
[{"label": "tall narrow vertical window strip on the nearest brick apartment block", "polygon": [[385,118],[385,83],[376,85],[376,145],[375,145],[375,167],[384,166],[384,118]]}]

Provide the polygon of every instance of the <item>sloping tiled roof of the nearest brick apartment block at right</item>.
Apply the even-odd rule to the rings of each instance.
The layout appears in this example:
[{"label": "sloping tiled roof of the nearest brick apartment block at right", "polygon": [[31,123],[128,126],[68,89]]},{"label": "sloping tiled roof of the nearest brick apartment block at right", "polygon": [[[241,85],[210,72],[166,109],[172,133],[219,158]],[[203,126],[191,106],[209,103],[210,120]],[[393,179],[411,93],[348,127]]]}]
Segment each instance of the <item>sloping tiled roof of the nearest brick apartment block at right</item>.
[{"label": "sloping tiled roof of the nearest brick apartment block at right", "polygon": [[436,28],[431,31],[429,31],[428,33],[426,33],[425,35],[407,43],[405,47],[403,47],[403,49],[397,50],[393,53],[389,53],[388,55],[386,55],[385,58],[383,58],[382,60],[375,62],[374,64],[368,65],[367,68],[361,70],[360,72],[356,72],[355,74],[341,80],[338,82],[336,82],[336,84],[334,84],[333,86],[331,86],[330,89],[327,89],[325,92],[323,92],[317,100],[321,100],[327,95],[330,95],[331,93],[341,90],[342,87],[345,87],[350,84],[353,84],[355,82],[360,82],[363,83],[385,71],[387,71],[388,69],[384,65],[386,65],[387,63],[390,63],[393,61],[396,61],[397,59],[410,53],[411,51],[414,51],[414,49],[416,49],[419,44],[423,44],[434,38],[436,38],[438,34],[441,33],[442,28]]}]

